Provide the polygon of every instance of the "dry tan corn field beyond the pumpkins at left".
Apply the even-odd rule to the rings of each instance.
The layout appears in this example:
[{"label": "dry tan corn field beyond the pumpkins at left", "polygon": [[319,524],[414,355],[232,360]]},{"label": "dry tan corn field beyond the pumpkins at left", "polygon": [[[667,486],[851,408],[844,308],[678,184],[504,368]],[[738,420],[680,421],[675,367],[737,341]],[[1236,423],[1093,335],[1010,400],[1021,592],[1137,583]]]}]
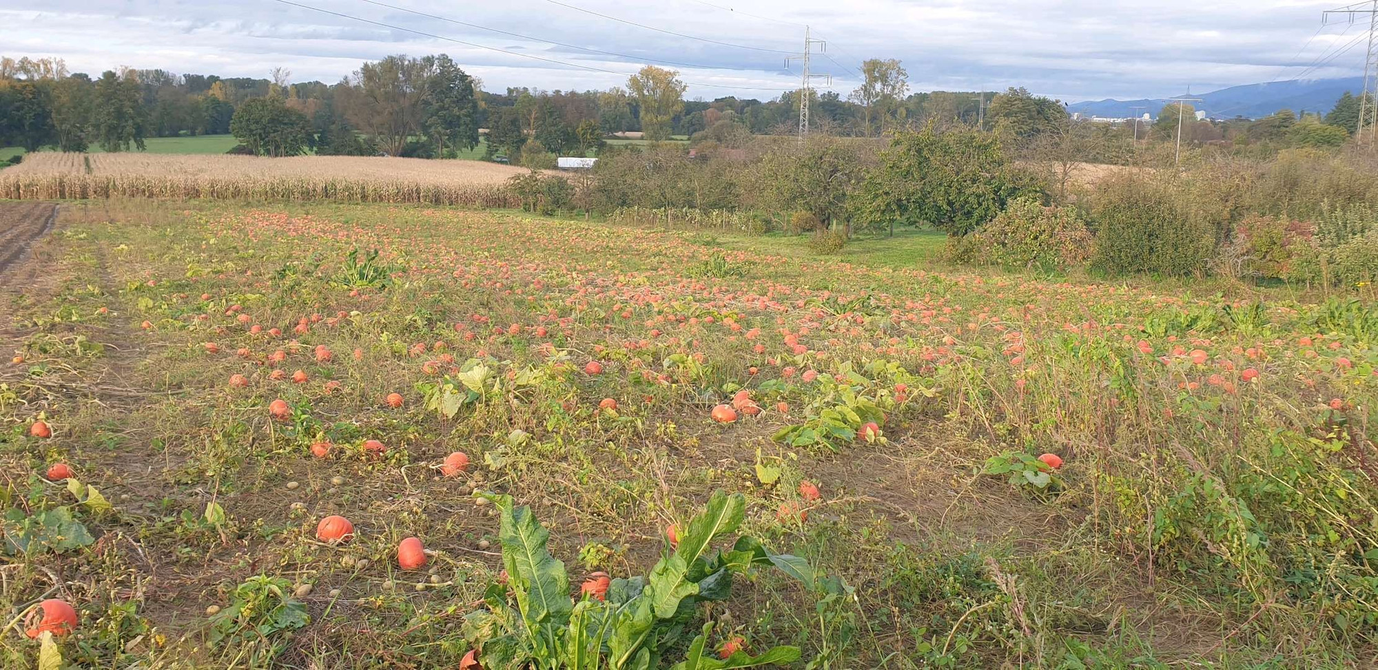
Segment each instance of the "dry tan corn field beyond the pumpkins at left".
[{"label": "dry tan corn field beyond the pumpkins at left", "polygon": [[524,172],[480,161],[358,156],[33,153],[0,172],[0,199],[262,199],[514,207],[506,181]]}]

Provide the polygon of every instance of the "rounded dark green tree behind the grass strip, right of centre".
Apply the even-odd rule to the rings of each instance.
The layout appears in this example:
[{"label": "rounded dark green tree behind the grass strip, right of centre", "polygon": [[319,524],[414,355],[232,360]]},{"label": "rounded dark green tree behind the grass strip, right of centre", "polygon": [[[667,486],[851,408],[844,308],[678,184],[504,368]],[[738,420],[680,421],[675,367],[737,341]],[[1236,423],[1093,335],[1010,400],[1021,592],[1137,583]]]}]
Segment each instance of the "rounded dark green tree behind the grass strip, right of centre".
[{"label": "rounded dark green tree behind the grass strip, right of centre", "polygon": [[896,134],[861,182],[853,211],[870,225],[927,223],[963,236],[1036,190],[1010,168],[995,134],[967,127],[938,134],[929,123]]}]

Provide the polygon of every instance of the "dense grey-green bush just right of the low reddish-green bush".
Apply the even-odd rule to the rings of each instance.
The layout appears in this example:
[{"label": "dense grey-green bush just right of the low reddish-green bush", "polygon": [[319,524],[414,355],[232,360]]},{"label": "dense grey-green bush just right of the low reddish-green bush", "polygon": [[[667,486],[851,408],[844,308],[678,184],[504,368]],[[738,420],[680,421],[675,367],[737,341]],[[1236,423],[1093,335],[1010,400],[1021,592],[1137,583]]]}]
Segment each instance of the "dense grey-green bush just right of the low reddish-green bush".
[{"label": "dense grey-green bush just right of the low reddish-green bush", "polygon": [[1107,179],[1093,193],[1094,265],[1111,273],[1203,274],[1224,212],[1175,178]]}]

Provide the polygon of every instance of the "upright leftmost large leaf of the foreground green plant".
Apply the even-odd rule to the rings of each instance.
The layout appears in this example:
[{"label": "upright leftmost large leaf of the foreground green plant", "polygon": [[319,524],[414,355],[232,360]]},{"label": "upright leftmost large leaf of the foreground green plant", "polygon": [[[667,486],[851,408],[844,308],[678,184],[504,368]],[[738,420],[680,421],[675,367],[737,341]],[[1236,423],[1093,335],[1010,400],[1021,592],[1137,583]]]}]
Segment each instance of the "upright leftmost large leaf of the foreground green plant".
[{"label": "upright leftmost large leaf of the foreground green plant", "polygon": [[569,575],[565,564],[546,549],[550,531],[536,521],[531,507],[514,509],[511,496],[481,495],[502,510],[497,539],[503,546],[503,565],[526,626],[565,626],[573,609]]}]

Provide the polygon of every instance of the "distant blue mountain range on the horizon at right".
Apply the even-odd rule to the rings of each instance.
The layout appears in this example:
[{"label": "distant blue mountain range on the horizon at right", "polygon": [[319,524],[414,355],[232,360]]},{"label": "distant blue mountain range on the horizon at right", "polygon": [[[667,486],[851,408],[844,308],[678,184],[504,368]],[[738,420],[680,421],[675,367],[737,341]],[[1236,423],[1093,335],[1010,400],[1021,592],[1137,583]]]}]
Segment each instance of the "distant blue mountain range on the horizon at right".
[{"label": "distant blue mountain range on the horizon at right", "polygon": [[[1202,102],[1192,102],[1197,110],[1204,110],[1211,119],[1259,119],[1269,116],[1279,109],[1293,112],[1330,112],[1335,101],[1349,91],[1359,95],[1363,91],[1363,77],[1348,79],[1312,79],[1293,81],[1271,81],[1266,84],[1243,84],[1221,88],[1207,94],[1192,94],[1191,98],[1202,98]],[[1158,112],[1167,105],[1163,99],[1144,98],[1137,101],[1086,101],[1067,105],[1068,112],[1080,112],[1086,116],[1108,116],[1124,119],[1148,112],[1158,116]],[[1133,108],[1145,108],[1135,110]]]}]

